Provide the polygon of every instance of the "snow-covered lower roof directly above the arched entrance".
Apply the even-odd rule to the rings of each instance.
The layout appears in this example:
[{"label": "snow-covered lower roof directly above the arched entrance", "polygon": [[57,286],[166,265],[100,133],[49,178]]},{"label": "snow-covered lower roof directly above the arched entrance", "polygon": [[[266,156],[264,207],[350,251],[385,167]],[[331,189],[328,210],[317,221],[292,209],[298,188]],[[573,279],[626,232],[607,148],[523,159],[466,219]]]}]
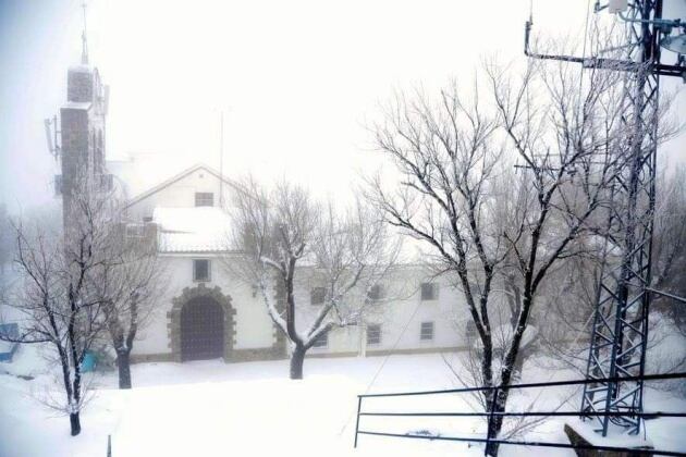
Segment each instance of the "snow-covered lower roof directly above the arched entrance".
[{"label": "snow-covered lower roof directly above the arched entrance", "polygon": [[156,208],[160,252],[225,251],[231,239],[231,218],[217,207]]}]

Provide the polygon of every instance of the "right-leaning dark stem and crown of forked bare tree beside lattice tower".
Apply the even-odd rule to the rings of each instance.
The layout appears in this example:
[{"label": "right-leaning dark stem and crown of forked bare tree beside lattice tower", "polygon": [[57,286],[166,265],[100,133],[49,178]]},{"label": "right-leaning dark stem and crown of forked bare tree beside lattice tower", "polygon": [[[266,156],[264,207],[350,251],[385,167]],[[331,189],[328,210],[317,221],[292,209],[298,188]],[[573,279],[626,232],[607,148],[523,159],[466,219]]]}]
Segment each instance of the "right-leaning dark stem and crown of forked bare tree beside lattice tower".
[{"label": "right-leaning dark stem and crown of forked bare tree beside lattice tower", "polygon": [[[522,296],[500,371],[506,386],[541,285],[556,262],[585,254],[585,245],[574,242],[595,232],[593,215],[609,203],[609,183],[623,157],[616,74],[591,71],[580,85],[578,73],[565,65],[530,64],[517,83],[504,73],[488,67],[502,129],[525,170],[514,189],[525,196],[523,205],[504,231]],[[509,393],[499,391],[495,410],[505,410]],[[490,433],[497,436],[501,428],[497,417]],[[492,446],[490,454],[497,453]]]}]

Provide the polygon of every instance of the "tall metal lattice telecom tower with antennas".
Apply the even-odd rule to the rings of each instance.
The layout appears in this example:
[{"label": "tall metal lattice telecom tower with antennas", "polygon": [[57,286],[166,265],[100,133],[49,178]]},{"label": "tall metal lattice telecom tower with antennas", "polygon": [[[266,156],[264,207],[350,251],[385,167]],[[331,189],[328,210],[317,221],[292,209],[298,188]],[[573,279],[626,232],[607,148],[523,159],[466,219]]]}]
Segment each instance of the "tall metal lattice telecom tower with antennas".
[{"label": "tall metal lattice telecom tower with antennas", "polygon": [[[636,415],[642,412],[642,381],[622,378],[645,374],[651,294],[665,295],[650,287],[659,89],[660,76],[678,76],[686,83],[686,28],[682,20],[662,18],[662,3],[609,0],[601,5],[596,1],[596,13],[607,9],[625,24],[624,54],[618,59],[531,52],[532,20],[525,25],[524,52],[528,57],[627,73],[622,116],[627,152],[611,183],[613,205],[604,234],[613,259],[602,267],[586,370],[589,380],[614,381],[585,385],[580,411],[603,436],[611,424],[629,434],[640,431],[641,419]],[[662,63],[660,47],[675,52],[676,61]]]}]

